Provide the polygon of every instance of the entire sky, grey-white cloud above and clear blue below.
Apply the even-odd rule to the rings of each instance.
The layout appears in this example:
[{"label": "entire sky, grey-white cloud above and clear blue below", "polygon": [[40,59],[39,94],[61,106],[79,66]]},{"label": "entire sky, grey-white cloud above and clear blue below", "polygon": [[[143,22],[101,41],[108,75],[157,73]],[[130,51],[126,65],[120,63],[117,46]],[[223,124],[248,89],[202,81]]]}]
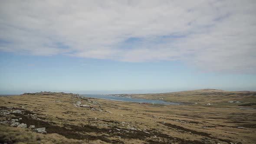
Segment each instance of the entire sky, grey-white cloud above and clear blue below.
[{"label": "entire sky, grey-white cloud above and clear blue below", "polygon": [[255,0],[1,0],[0,94],[256,91]]}]

